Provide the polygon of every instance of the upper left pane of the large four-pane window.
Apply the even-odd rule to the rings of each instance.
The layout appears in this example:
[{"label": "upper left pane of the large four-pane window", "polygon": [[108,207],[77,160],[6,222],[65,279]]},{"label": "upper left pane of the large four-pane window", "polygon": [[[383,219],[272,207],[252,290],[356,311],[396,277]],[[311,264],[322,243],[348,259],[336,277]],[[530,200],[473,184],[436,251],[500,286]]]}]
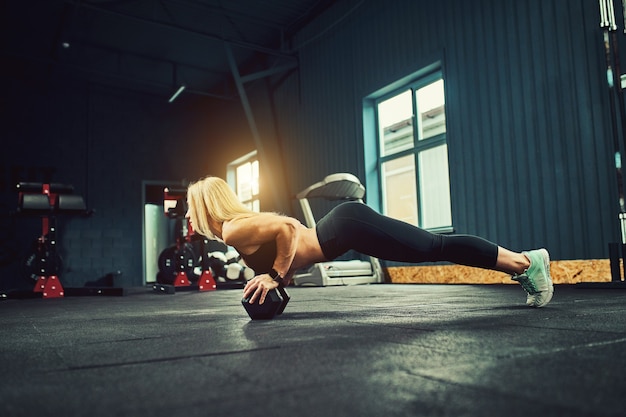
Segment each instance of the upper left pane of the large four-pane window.
[{"label": "upper left pane of the large four-pane window", "polygon": [[378,103],[381,155],[413,147],[413,105],[411,90]]}]

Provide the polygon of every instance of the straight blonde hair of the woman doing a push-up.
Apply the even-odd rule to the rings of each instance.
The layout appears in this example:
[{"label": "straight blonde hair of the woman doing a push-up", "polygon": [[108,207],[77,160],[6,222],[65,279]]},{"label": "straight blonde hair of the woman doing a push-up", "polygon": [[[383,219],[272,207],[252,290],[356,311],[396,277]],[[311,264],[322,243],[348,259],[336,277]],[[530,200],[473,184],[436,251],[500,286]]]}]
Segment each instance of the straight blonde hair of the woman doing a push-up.
[{"label": "straight blonde hair of the woman doing a push-up", "polygon": [[223,223],[236,217],[257,214],[239,201],[226,181],[212,176],[189,184],[187,204],[194,230],[209,238],[215,238],[209,220]]}]

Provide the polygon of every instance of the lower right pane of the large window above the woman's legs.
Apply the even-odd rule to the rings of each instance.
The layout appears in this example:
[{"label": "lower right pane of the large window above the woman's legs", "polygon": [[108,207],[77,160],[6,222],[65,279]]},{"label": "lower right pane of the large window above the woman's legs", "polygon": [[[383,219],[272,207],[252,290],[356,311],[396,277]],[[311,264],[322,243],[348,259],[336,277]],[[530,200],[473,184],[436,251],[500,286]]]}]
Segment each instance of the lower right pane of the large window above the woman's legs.
[{"label": "lower right pane of the large window above the woman's legs", "polygon": [[419,153],[420,201],[423,228],[452,225],[448,146]]}]

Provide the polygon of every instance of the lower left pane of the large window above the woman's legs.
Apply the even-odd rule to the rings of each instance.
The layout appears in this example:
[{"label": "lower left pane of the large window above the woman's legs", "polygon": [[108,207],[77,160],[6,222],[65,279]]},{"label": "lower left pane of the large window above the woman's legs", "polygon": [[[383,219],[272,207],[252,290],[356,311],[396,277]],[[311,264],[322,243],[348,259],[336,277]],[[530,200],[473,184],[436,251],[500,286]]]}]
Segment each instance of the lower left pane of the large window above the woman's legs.
[{"label": "lower left pane of the large window above the woman's legs", "polygon": [[385,214],[417,226],[414,156],[384,162],[382,175]]}]

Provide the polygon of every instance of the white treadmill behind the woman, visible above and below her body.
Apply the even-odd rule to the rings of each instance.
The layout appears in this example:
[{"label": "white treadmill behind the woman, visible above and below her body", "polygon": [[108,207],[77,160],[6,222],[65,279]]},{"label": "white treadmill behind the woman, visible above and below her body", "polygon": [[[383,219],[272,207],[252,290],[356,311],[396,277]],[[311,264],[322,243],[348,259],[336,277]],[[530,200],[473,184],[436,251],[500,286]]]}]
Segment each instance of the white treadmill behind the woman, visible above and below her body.
[{"label": "white treadmill behind the woman, visible above and below her body", "polygon": [[[349,173],[336,173],[326,176],[296,195],[304,214],[307,226],[315,226],[315,217],[309,199],[324,198],[331,201],[363,202],[365,187],[359,179]],[[378,259],[368,261],[347,260],[314,264],[303,272],[296,272],[293,282],[298,286],[330,286],[380,283],[383,281],[382,268]]]}]

